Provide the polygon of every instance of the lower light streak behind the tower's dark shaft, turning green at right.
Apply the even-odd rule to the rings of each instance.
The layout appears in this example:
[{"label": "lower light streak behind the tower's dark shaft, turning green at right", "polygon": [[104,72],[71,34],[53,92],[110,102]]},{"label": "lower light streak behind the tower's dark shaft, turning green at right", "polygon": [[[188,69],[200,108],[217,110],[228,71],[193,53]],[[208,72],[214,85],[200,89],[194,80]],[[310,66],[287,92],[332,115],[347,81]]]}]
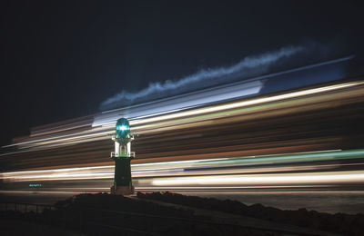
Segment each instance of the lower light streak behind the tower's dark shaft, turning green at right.
[{"label": "lower light streak behind the tower's dark shaft, turning green at right", "polygon": [[[179,162],[151,162],[132,164],[134,178],[157,176],[187,176],[206,174],[233,174],[253,172],[302,172],[339,168],[346,164],[320,164],[317,161],[358,159],[364,157],[364,150],[323,152],[297,152],[284,155],[261,155],[240,158],[199,159]],[[280,163],[313,162],[304,166],[276,166]],[[254,165],[264,164],[266,166]],[[355,164],[353,164],[355,165]],[[358,165],[361,165],[360,163]],[[248,168],[247,168],[248,167]],[[230,168],[228,170],[224,168]],[[231,169],[233,168],[233,169]],[[114,177],[114,165],[63,168],[53,170],[3,172],[0,180],[4,182],[32,182],[32,181],[62,181],[62,180],[93,180],[112,179]]]}]

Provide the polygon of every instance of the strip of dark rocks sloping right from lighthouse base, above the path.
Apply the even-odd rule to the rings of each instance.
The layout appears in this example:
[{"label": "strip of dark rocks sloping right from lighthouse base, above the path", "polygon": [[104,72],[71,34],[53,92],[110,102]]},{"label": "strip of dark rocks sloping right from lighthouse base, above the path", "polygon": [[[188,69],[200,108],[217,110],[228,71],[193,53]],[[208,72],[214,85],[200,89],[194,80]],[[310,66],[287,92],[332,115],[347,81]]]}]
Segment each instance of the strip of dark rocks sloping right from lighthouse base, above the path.
[{"label": "strip of dark rocks sloping right from lighthouse base, above the path", "polygon": [[196,196],[185,196],[172,192],[153,192],[145,194],[138,192],[137,196],[139,198],[172,202],[213,211],[223,211],[262,220],[283,222],[345,235],[363,235],[364,232],[363,214],[329,214],[318,211],[308,211],[305,208],[298,209],[297,211],[283,211],[274,207],[265,207],[262,204],[247,206],[246,204],[237,201],[199,198]]}]

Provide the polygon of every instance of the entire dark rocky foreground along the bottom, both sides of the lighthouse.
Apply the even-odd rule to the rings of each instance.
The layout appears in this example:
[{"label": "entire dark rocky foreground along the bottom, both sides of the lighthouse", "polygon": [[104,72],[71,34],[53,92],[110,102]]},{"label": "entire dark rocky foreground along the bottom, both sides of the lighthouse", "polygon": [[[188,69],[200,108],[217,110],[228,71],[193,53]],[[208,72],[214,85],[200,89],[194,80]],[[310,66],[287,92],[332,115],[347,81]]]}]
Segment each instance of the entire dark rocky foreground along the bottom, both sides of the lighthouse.
[{"label": "entire dark rocky foreground along the bottom, both sides of the lighthouse", "polygon": [[[197,210],[206,214],[197,214]],[[282,228],[247,226],[216,221],[213,214],[282,223]],[[261,204],[180,195],[172,192],[140,193],[123,197],[107,193],[80,194],[57,202],[42,213],[8,211],[6,220],[31,221],[86,235],[288,235],[284,225],[342,235],[362,235],[364,215],[329,214],[317,211],[282,211]],[[248,219],[246,218],[246,219]],[[244,218],[241,218],[244,219]],[[277,224],[279,225],[279,224]],[[299,228],[297,227],[297,228]],[[294,229],[294,228],[293,228]],[[291,231],[292,232],[292,231]],[[311,235],[297,231],[294,235]],[[315,234],[315,233],[312,233]]]}]

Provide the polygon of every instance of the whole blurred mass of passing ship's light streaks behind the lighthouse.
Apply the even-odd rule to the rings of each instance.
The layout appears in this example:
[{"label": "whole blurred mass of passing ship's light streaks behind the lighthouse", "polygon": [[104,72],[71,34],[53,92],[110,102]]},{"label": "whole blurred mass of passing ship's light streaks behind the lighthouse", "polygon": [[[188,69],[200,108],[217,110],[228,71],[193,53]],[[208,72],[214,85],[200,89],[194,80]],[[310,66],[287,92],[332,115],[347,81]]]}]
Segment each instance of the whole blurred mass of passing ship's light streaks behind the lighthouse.
[{"label": "whole blurred mass of passing ship's light streaks behind the lighthouse", "polygon": [[[264,84],[35,127],[2,148],[1,192],[108,191],[114,174],[108,134],[120,117],[138,134],[132,161],[138,191],[362,189],[364,82],[259,93]],[[255,96],[238,95],[244,86]],[[194,99],[198,104],[188,102]]]}]

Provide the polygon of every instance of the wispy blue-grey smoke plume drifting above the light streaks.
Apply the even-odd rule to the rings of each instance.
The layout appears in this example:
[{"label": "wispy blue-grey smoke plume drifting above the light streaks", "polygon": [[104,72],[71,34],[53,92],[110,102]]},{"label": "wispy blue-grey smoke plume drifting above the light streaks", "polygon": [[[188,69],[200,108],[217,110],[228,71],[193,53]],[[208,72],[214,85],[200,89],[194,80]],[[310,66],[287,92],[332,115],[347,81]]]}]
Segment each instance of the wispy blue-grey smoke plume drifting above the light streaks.
[{"label": "wispy blue-grey smoke plume drifting above the light streaks", "polygon": [[258,74],[265,74],[272,65],[278,64],[282,60],[286,61],[289,57],[304,51],[304,49],[304,46],[286,46],[275,52],[247,56],[238,64],[231,66],[200,70],[196,74],[178,80],[167,80],[164,83],[151,83],[147,88],[136,93],[123,90],[101,103],[101,110],[186,93],[191,91],[191,88],[202,89],[217,84],[235,82],[237,79],[241,80]]}]

